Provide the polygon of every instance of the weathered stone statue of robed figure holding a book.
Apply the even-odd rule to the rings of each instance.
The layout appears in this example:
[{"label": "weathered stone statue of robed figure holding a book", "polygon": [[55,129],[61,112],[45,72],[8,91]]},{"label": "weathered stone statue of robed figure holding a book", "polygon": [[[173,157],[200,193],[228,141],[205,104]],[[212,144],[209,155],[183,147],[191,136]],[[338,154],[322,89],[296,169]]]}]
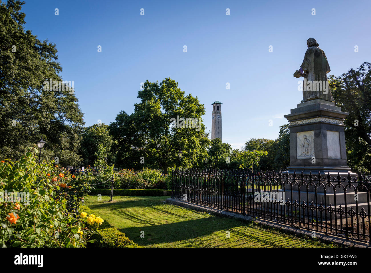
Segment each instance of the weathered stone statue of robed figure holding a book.
[{"label": "weathered stone statue of robed figure holding a book", "polygon": [[325,52],[318,47],[314,38],[306,40],[306,44],[308,49],[305,52],[303,63],[294,73],[295,78],[304,77],[303,100],[306,102],[312,99],[323,99],[334,102],[326,76],[331,70]]}]

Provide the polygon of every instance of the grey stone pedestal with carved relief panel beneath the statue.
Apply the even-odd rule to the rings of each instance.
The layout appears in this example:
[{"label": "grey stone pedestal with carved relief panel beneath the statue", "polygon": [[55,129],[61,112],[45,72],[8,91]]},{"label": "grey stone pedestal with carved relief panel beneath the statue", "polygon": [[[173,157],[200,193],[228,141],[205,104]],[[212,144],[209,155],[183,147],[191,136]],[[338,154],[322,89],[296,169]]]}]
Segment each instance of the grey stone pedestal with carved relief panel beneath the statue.
[{"label": "grey stone pedestal with carved relief panel beneath the statue", "polygon": [[[342,112],[334,102],[314,99],[299,103],[284,117],[290,122],[290,173],[347,176],[344,120],[349,113]],[[351,175],[355,175],[351,173]]]}]

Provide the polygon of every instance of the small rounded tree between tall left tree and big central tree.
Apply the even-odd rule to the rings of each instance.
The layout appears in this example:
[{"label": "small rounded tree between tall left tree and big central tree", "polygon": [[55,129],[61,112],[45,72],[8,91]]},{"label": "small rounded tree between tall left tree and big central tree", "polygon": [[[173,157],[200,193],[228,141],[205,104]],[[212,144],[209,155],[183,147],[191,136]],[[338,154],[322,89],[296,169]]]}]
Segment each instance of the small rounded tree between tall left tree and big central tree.
[{"label": "small rounded tree between tall left tree and big central tree", "polygon": [[107,154],[108,162],[113,162],[114,157],[110,152],[112,137],[109,135],[108,125],[94,124],[85,128],[81,140],[81,155],[83,165],[93,165],[99,145],[102,144],[103,152]]}]

